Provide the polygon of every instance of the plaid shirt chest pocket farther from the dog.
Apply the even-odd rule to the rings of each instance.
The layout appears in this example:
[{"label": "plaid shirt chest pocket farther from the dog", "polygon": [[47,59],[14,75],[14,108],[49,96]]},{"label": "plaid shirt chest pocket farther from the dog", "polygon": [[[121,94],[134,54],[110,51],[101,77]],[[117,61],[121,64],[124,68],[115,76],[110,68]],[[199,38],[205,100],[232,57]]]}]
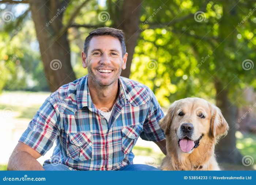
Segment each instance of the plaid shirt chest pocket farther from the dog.
[{"label": "plaid shirt chest pocket farther from the dog", "polygon": [[75,161],[84,161],[92,158],[92,133],[69,133],[68,156]]}]

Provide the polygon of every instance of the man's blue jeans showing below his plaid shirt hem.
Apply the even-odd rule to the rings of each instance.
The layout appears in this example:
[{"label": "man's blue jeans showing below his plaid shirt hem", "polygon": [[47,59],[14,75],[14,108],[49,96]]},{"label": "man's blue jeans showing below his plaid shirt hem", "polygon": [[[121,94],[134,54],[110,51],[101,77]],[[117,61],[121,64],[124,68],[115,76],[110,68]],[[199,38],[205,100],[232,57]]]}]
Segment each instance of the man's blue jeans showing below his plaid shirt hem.
[{"label": "man's blue jeans showing below his plaid shirt hem", "polygon": [[[63,165],[63,164],[48,164],[43,166],[43,168],[46,171],[69,171],[70,169],[68,166]],[[153,166],[148,166],[148,165],[126,165],[124,167],[121,167],[119,171],[159,171],[159,169],[153,167]]]}]

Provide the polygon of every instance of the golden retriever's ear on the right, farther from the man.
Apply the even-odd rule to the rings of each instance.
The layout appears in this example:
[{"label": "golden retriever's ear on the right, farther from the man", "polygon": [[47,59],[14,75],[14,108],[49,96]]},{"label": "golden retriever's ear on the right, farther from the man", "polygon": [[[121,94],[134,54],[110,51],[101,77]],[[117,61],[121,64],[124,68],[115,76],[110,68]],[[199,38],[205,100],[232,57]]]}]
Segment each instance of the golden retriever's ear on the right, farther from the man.
[{"label": "golden retriever's ear on the right, farther from the man", "polygon": [[221,136],[227,135],[229,125],[217,106],[211,105],[211,115],[211,133],[217,141]]}]

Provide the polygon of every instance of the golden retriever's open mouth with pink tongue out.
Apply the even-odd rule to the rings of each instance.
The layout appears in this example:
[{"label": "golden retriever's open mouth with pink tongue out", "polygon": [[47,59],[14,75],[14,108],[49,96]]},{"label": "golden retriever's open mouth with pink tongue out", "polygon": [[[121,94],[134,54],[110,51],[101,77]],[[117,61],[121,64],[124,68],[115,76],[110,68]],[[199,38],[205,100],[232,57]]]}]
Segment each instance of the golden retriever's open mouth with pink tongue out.
[{"label": "golden retriever's open mouth with pink tongue out", "polygon": [[178,144],[180,149],[183,152],[190,152],[191,150],[193,150],[193,148],[197,148],[199,146],[199,142],[202,139],[204,135],[202,134],[199,139],[193,141],[191,139],[189,139],[188,137],[184,137],[183,139],[179,139],[178,140]]}]

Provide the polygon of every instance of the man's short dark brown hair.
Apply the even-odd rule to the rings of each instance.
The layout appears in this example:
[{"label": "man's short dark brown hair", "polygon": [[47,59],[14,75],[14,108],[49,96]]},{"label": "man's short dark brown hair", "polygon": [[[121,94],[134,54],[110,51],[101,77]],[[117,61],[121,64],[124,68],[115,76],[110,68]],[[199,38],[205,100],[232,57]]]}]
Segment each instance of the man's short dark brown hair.
[{"label": "man's short dark brown hair", "polygon": [[89,33],[89,35],[86,37],[84,41],[84,46],[83,46],[83,52],[86,53],[86,55],[88,52],[91,38],[93,38],[94,36],[101,36],[101,35],[110,35],[111,37],[117,38],[121,43],[122,54],[124,56],[124,54],[126,53],[124,32],[123,30],[118,30],[110,27],[98,28]]}]

